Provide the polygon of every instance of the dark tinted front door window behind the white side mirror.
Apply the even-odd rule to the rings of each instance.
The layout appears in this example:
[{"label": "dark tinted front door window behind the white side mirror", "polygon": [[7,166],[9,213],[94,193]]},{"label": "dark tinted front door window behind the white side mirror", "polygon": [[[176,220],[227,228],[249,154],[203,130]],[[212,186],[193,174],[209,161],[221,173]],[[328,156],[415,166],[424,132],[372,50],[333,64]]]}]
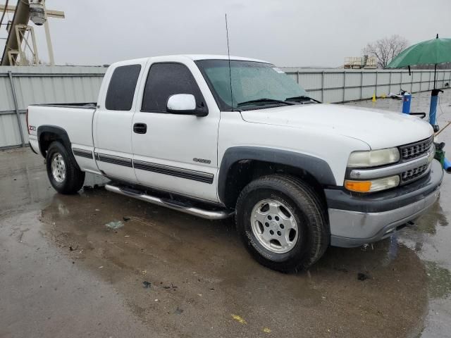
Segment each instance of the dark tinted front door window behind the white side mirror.
[{"label": "dark tinted front door window behind the white side mirror", "polygon": [[166,113],[173,94],[192,94],[197,108],[204,108],[204,98],[190,70],[180,63],[154,63],[147,76],[141,111]]}]

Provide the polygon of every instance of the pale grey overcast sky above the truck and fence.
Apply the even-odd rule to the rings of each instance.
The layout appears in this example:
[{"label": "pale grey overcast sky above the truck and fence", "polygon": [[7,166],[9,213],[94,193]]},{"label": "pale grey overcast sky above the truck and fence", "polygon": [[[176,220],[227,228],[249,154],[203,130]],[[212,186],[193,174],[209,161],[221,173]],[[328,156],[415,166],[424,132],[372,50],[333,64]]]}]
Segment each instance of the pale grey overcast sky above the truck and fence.
[{"label": "pale grey overcast sky above the truck and fence", "polygon": [[[226,12],[230,54],[279,66],[338,67],[367,42],[393,34],[410,44],[451,37],[450,0],[47,0],[47,8],[66,13],[49,19],[58,64],[227,54]],[[36,31],[45,59],[44,29]]]}]

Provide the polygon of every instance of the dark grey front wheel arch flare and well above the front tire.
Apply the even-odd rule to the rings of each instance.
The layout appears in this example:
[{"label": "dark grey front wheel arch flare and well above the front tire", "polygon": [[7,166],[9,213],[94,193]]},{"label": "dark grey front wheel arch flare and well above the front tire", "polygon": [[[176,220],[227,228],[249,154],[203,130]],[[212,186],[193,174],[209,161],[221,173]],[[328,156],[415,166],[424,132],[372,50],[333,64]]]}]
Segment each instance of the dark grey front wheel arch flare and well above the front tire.
[{"label": "dark grey front wheel arch flare and well above the front tire", "polygon": [[326,203],[323,187],[335,186],[336,181],[326,161],[314,156],[256,146],[234,146],[226,150],[218,175],[218,197],[228,208],[242,188],[262,175],[285,173],[295,175],[319,190]]}]

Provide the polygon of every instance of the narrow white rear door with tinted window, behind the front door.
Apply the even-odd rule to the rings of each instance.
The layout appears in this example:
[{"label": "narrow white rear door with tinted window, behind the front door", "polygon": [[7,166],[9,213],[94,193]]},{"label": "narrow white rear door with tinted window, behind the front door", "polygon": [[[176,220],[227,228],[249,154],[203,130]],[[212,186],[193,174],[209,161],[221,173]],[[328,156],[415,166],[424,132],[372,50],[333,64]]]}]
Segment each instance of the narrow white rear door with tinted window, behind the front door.
[{"label": "narrow white rear door with tinted window, behind the front door", "polygon": [[94,115],[94,145],[97,166],[104,175],[136,182],[132,165],[132,119],[137,84],[146,61],[127,61],[109,69]]}]

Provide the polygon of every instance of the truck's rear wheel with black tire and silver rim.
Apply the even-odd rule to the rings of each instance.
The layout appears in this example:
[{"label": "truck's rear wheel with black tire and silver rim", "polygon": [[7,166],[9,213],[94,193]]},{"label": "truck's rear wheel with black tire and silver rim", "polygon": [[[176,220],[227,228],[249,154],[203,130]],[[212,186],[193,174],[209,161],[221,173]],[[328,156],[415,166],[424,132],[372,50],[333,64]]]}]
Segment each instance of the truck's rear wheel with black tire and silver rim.
[{"label": "truck's rear wheel with black tire and silver rim", "polygon": [[61,142],[52,142],[46,156],[47,176],[60,194],[75,194],[85,182],[85,173]]}]

